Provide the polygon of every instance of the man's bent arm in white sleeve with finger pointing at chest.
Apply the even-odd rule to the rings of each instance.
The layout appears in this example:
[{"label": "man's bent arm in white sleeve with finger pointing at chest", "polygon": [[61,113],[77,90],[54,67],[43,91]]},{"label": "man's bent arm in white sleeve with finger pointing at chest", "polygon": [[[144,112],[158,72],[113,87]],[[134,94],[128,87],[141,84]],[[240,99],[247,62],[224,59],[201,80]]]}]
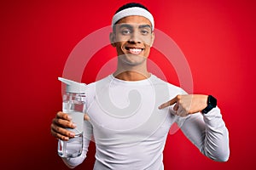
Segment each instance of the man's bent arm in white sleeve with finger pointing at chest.
[{"label": "man's bent arm in white sleeve with finger pointing at chest", "polygon": [[[183,117],[179,124],[186,137],[201,152],[215,161],[227,161],[230,156],[229,132],[225,127],[218,107],[207,114],[201,114],[207,106],[207,95],[177,95],[160,109],[174,105],[173,113]],[[182,118],[181,118],[182,119]]]}]

